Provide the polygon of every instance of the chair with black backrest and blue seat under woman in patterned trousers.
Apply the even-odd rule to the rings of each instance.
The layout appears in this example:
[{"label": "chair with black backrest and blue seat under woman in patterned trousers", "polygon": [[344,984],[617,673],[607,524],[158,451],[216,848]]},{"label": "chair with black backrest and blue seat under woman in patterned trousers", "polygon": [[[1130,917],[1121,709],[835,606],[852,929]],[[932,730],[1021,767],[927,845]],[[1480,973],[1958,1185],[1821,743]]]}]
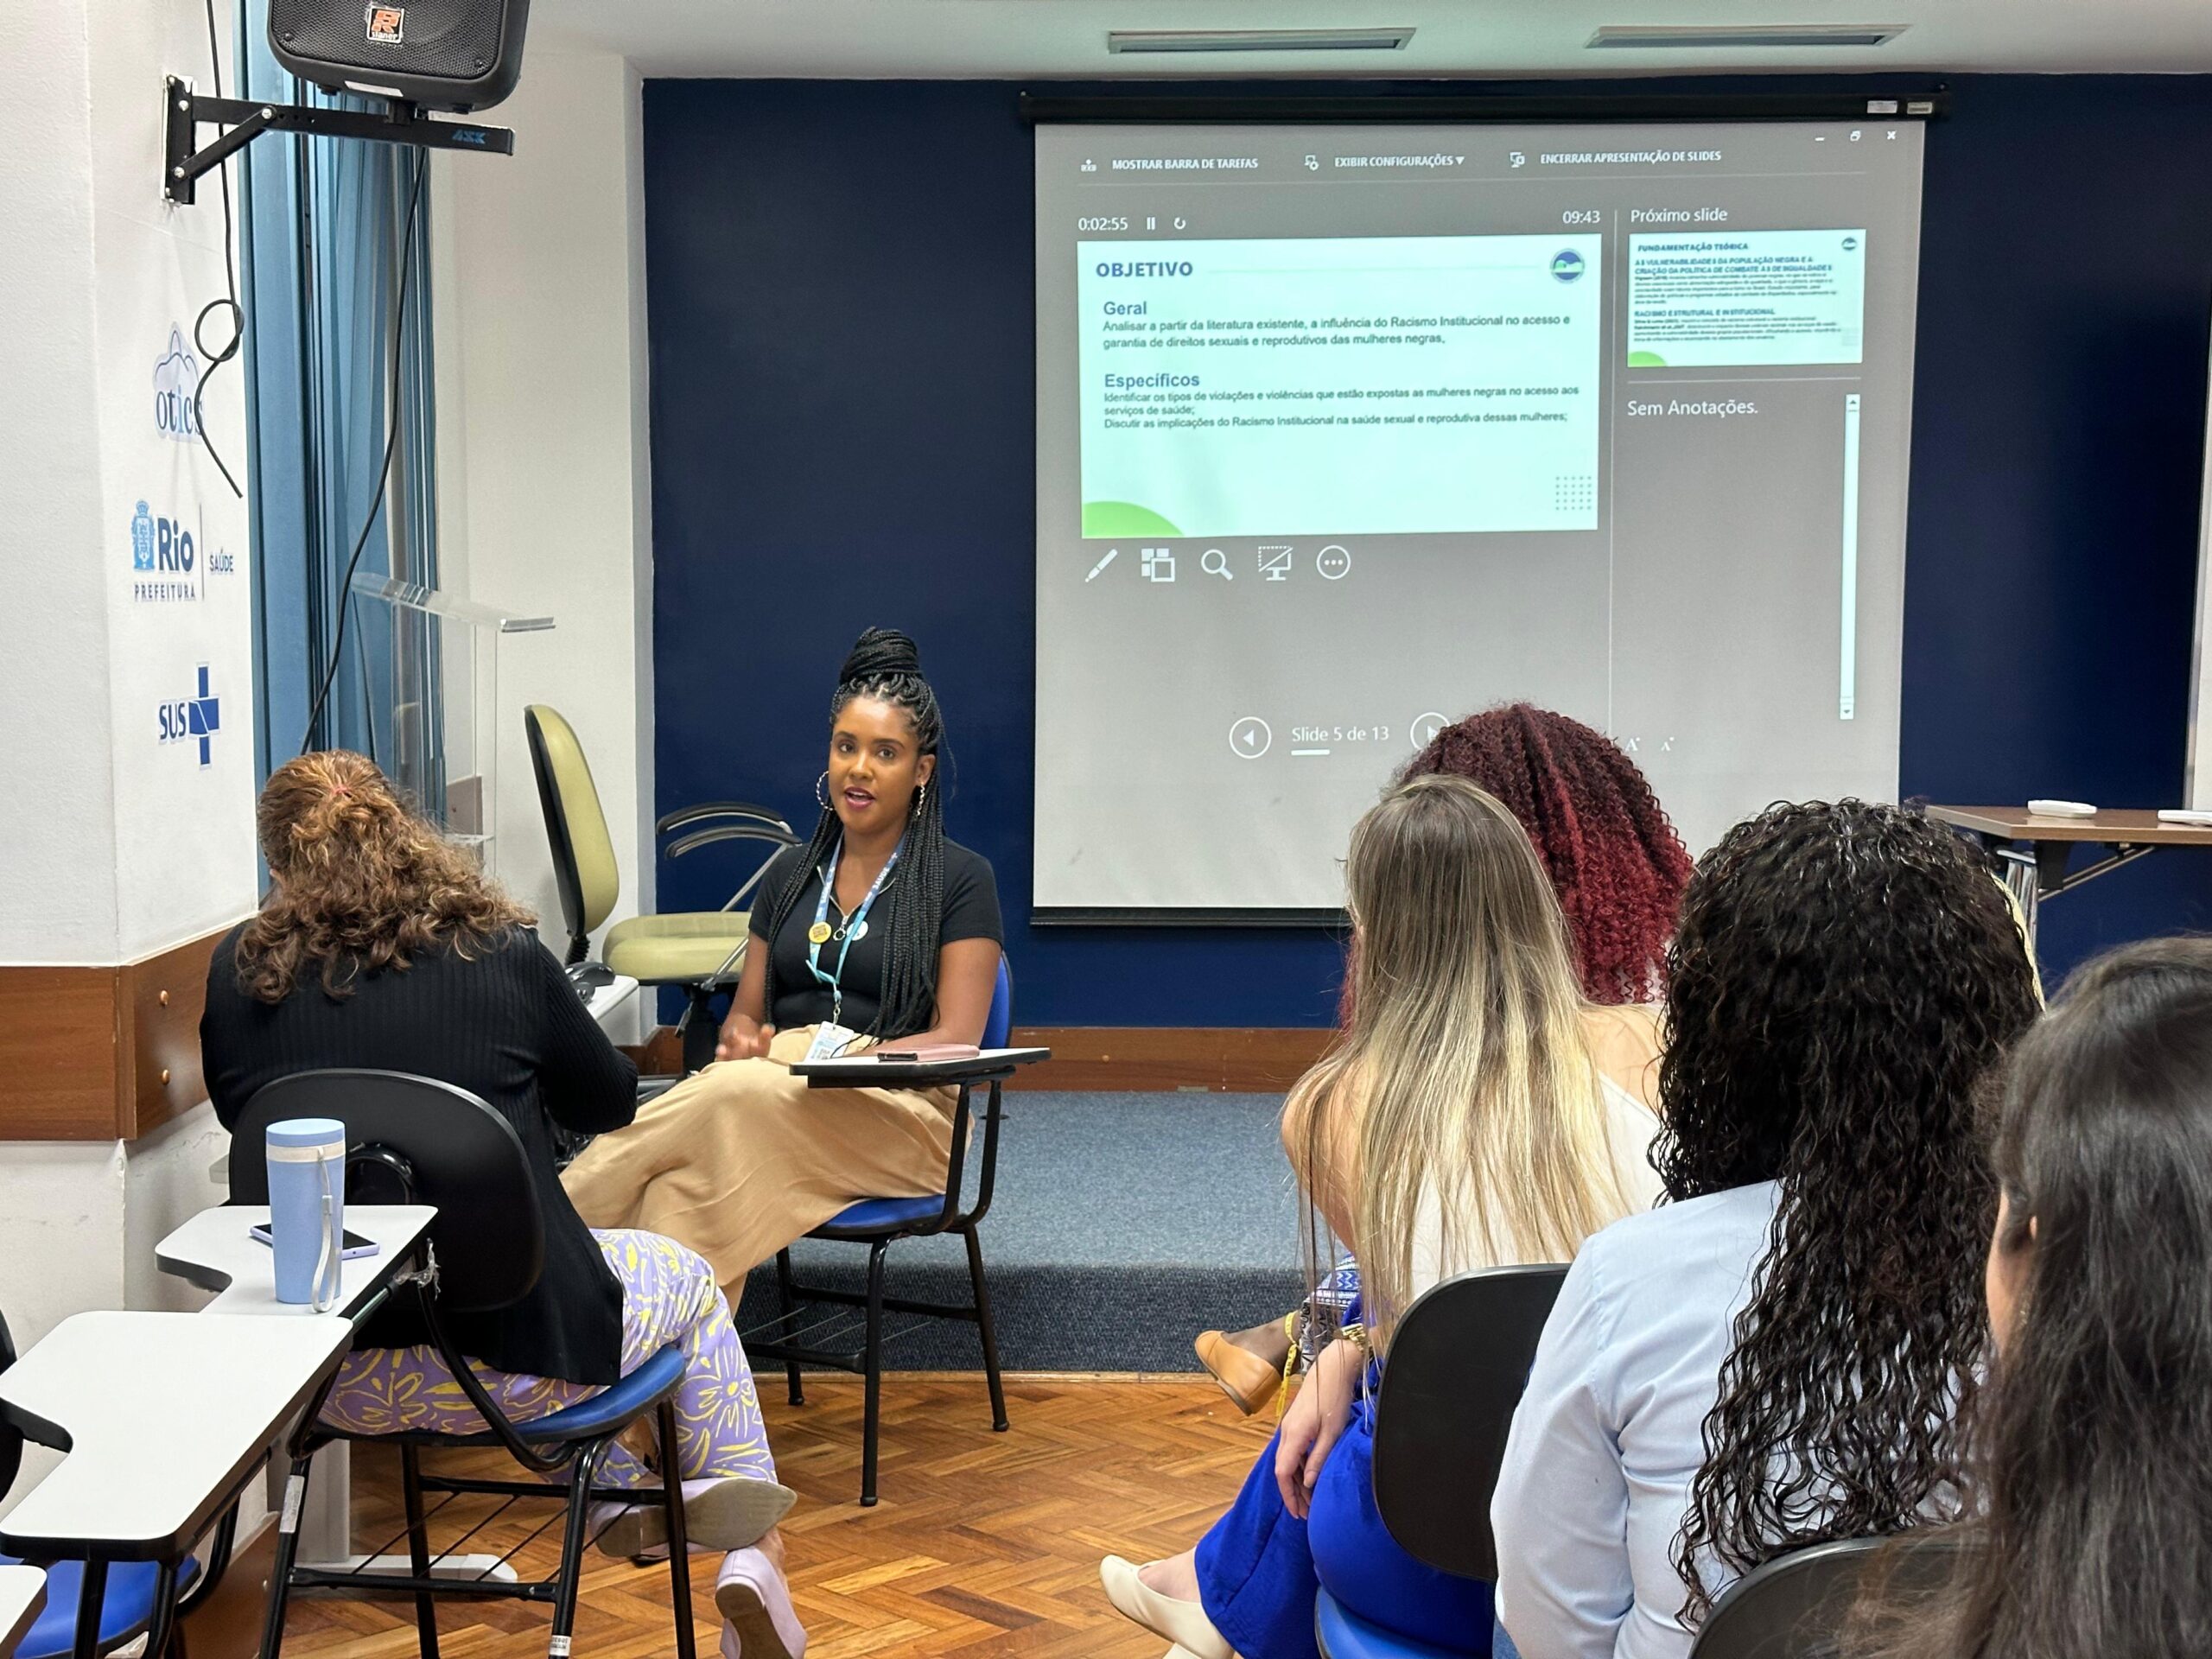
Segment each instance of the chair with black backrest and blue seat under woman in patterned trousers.
[{"label": "chair with black backrest and blue seat under woman in patterned trousers", "polygon": [[[684,1535],[684,1493],[675,1478],[677,1413],[675,1394],[684,1380],[684,1352],[675,1345],[650,1354],[637,1369],[608,1389],[529,1422],[515,1422],[478,1380],[447,1336],[440,1312],[487,1312],[520,1301],[544,1267],[544,1217],[538,1188],[531,1183],[522,1139],[513,1126],[476,1095],[431,1077],[396,1071],[307,1071],[279,1077],[263,1086],[239,1115],[230,1150],[230,1197],[234,1203],[268,1201],[268,1166],[252,1152],[265,1141],[265,1130],[281,1117],[336,1117],[347,1139],[347,1197],[374,1201],[434,1203],[438,1219],[429,1228],[427,1265],[394,1279],[394,1294],[411,1296],[429,1332],[431,1347],[445,1360],[453,1380],[484,1420],[482,1433],[385,1433],[358,1436],[316,1420],[321,1402],[307,1413],[292,1444],[292,1480],[305,1491],[307,1460],[330,1440],[378,1440],[400,1449],[400,1495],[407,1509],[409,1575],[323,1573],[296,1568],[299,1533],[276,1542],[268,1626],[261,1659],[276,1659],[283,1644],[283,1610],[292,1586],[354,1590],[363,1595],[411,1595],[416,1601],[416,1637],[422,1659],[438,1659],[436,1595],[518,1597],[553,1604],[551,1652],[564,1659],[575,1630],[577,1588],[584,1568],[586,1513],[593,1500],[624,1504],[659,1498],[668,1526],[668,1579],[672,1590],[677,1655],[695,1659],[690,1551]],[[243,1155],[241,1155],[243,1148]],[[383,1183],[387,1190],[363,1192]],[[615,1438],[641,1418],[655,1420],[661,1460],[659,1493],[597,1484],[597,1471]],[[422,1447],[504,1447],[507,1453],[544,1480],[460,1480],[427,1475]],[[553,1482],[553,1484],[549,1484]],[[524,1500],[562,1500],[560,1566],[546,1579],[500,1582],[478,1575],[469,1579],[434,1577],[436,1557],[429,1548],[429,1515],[425,1493],[489,1493],[507,1504]],[[500,1506],[502,1513],[507,1504]],[[440,1504],[442,1509],[442,1504]],[[487,1517],[489,1520],[489,1517]],[[482,1522],[471,1528],[480,1531]],[[540,1528],[544,1531],[544,1528]],[[535,1533],[531,1533],[535,1537]],[[385,1546],[369,1551],[383,1555]],[[509,1551],[513,1555],[513,1551]],[[504,1557],[502,1557],[504,1564]]]}]

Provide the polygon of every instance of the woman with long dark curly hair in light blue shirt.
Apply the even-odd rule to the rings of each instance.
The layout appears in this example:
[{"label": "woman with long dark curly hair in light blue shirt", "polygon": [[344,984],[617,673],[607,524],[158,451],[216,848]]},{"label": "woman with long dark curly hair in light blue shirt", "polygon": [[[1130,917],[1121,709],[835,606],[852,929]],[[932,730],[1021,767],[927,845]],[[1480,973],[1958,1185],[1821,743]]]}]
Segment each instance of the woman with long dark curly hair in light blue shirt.
[{"label": "woman with long dark curly hair in light blue shirt", "polygon": [[1900,807],[1778,805],[1668,951],[1668,1203],[1584,1245],[1491,1502],[1522,1659],[1674,1659],[1736,1575],[1958,1506],[1995,1183],[1973,1095],[2035,1018],[1997,885]]}]

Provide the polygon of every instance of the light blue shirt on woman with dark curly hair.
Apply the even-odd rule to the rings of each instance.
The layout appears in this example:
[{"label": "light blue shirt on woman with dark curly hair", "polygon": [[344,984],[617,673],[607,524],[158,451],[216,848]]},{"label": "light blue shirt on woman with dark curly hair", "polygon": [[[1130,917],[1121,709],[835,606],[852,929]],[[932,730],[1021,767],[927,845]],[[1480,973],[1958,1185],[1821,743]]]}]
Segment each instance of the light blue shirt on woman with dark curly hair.
[{"label": "light blue shirt on woman with dark curly hair", "polygon": [[[1491,1498],[1498,1619],[1522,1659],[1683,1659],[1674,1535],[1767,1252],[1774,1181],[1615,1221],[1544,1325]],[[1728,1575],[1703,1564],[1719,1595]]]}]

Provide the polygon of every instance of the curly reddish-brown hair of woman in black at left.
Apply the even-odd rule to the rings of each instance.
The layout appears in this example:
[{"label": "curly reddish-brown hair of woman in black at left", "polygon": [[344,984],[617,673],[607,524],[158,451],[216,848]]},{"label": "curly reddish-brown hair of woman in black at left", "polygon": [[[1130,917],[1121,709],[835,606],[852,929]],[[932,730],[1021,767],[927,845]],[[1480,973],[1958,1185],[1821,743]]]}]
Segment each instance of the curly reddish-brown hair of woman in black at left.
[{"label": "curly reddish-brown hair of woman in black at left", "polygon": [[405,969],[447,945],[471,951],[531,920],[349,750],[285,761],[257,818],[270,894],[239,936],[237,969],[263,1002],[283,1002],[310,975],[343,998],[361,973]]}]

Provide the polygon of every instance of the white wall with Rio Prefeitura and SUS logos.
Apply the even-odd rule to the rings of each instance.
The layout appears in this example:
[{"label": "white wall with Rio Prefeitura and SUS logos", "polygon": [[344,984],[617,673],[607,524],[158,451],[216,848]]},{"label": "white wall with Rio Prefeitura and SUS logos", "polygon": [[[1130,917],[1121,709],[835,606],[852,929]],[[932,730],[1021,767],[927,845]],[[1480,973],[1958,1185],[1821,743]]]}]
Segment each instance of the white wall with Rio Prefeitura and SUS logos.
[{"label": "white wall with Rio Prefeitura and SUS logos", "polygon": [[[223,292],[215,181],[192,208],[161,197],[161,75],[208,84],[206,18],[199,0],[29,0],[0,11],[0,62],[15,71],[0,100],[0,301],[15,319],[0,513],[20,551],[0,608],[0,967],[111,967],[254,905],[246,509],[157,418],[157,392],[206,369],[173,358],[170,332],[188,338]],[[204,407],[243,476],[237,365]],[[161,520],[175,568],[137,568],[137,531]],[[206,761],[161,732],[201,666]],[[223,1139],[201,1106],[128,1146],[0,1141],[0,1310],[18,1345],[86,1307],[170,1303],[181,1287],[155,1274],[153,1241],[221,1197],[208,1164]]]}]

